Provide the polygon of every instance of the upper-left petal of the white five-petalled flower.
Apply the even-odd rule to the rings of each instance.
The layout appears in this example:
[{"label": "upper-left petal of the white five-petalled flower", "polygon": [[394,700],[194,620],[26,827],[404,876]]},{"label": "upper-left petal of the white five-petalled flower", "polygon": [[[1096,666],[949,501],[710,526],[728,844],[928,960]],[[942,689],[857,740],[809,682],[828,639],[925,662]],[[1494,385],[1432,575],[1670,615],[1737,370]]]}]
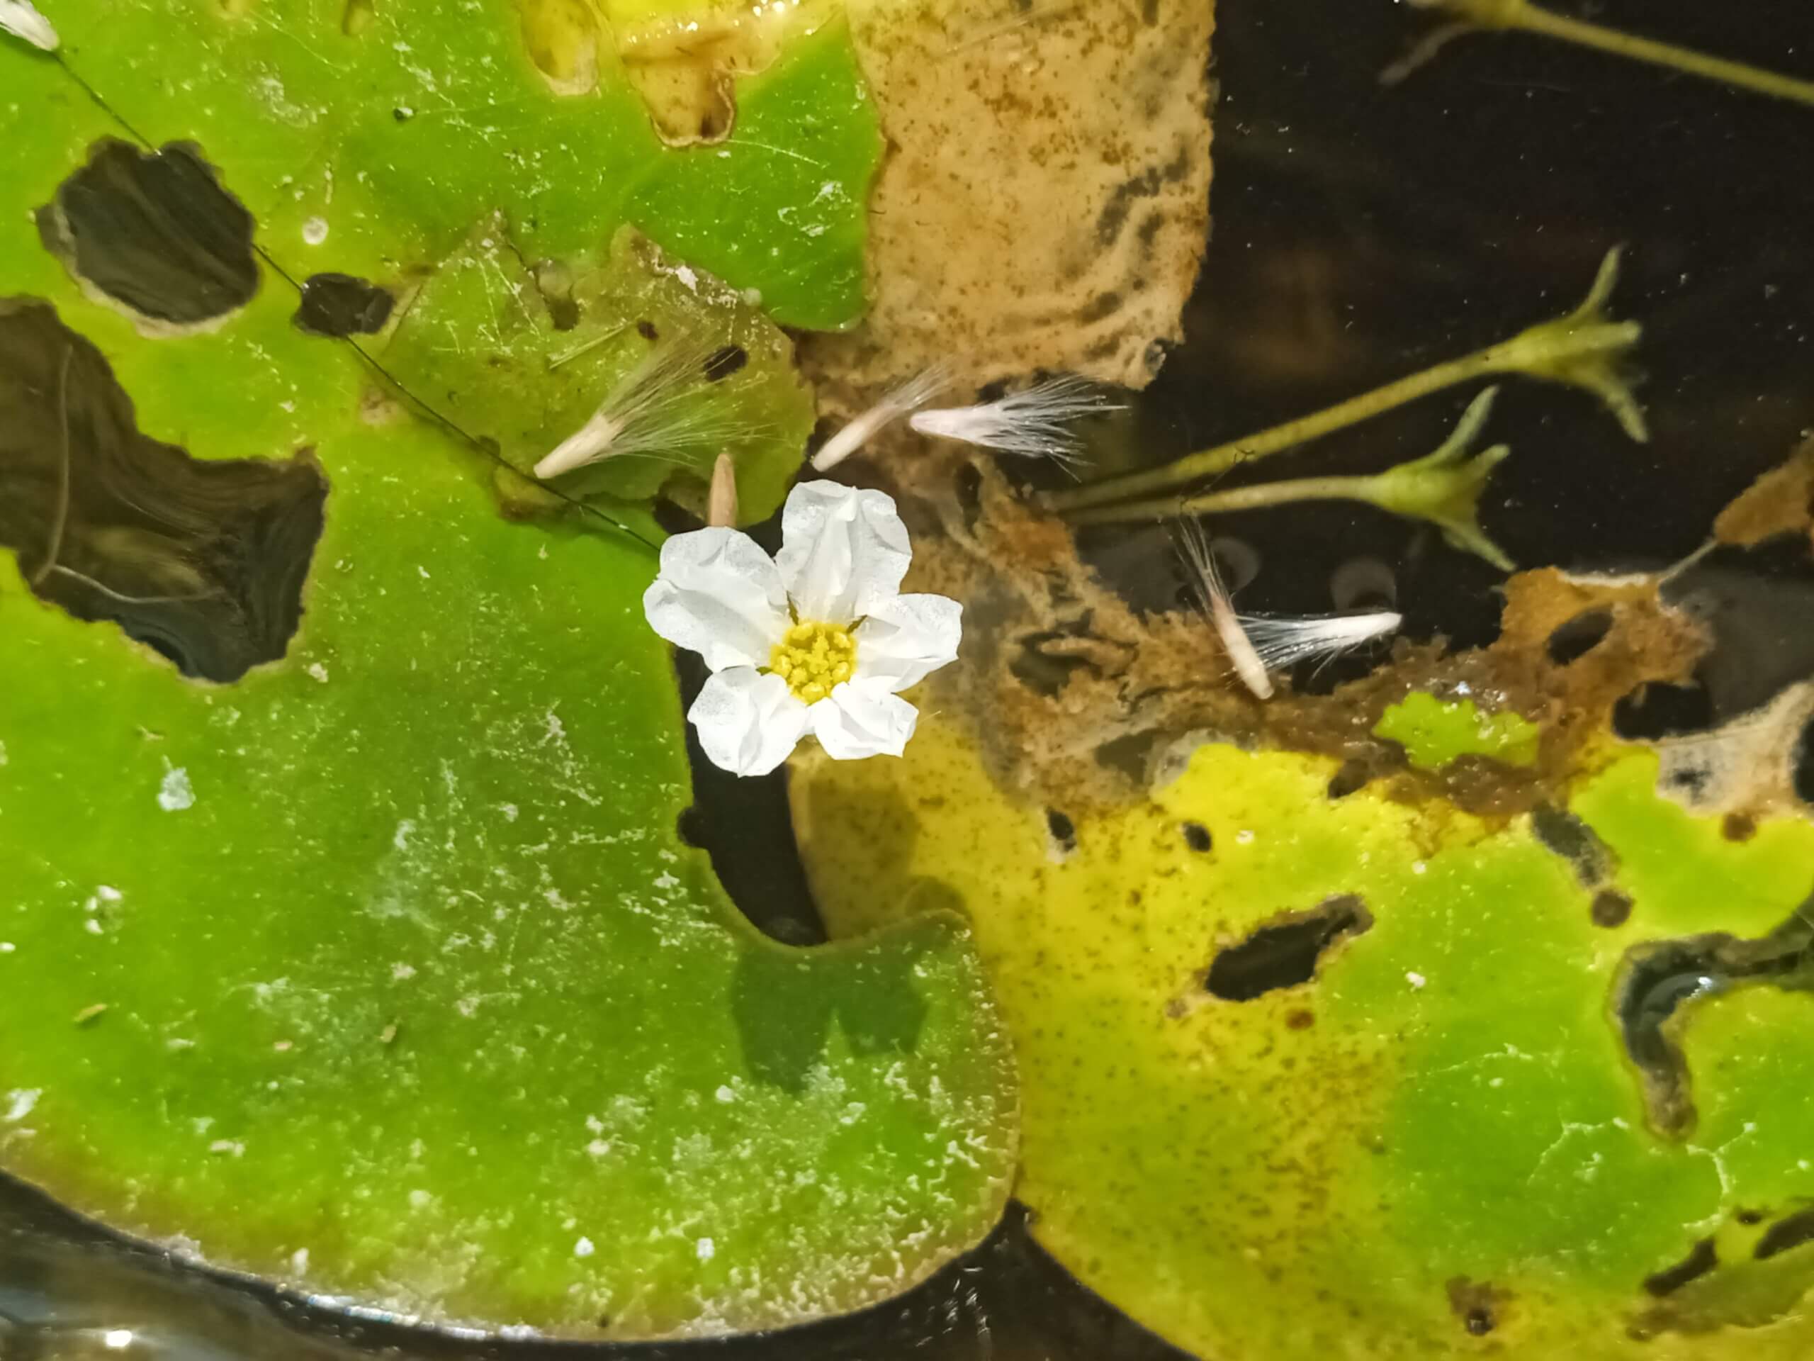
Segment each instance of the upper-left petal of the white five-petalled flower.
[{"label": "upper-left petal of the white five-petalled flower", "polygon": [[706,666],[767,666],[787,632],[780,572],[747,534],[693,530],[662,544],[662,572],[642,593],[649,628]]}]

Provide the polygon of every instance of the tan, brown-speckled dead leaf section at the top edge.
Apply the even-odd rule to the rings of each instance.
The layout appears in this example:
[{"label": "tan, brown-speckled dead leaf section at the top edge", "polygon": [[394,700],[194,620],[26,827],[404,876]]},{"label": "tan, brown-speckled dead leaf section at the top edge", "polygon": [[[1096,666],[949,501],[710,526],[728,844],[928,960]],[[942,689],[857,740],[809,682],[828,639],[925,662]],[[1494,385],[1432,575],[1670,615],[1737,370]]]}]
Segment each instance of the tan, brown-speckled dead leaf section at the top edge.
[{"label": "tan, brown-speckled dead leaf section at the top edge", "polygon": [[951,361],[1145,387],[1208,234],[1214,5],[851,0],[889,151],[863,325],[814,336],[822,408]]}]

